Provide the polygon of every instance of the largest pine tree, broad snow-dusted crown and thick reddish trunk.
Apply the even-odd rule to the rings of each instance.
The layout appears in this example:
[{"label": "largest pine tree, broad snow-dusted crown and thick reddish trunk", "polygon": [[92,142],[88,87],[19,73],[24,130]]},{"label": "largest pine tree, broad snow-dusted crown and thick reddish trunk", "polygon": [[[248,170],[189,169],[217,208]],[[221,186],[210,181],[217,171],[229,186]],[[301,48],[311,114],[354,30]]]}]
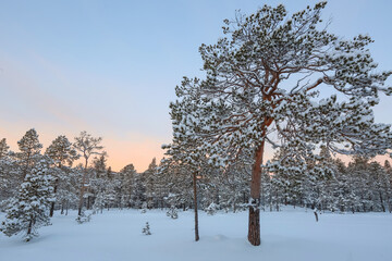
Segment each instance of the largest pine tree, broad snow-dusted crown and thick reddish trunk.
[{"label": "largest pine tree, broad snow-dusted crown and thick reddish trunk", "polygon": [[[375,123],[372,107],[380,92],[392,94],[384,86],[392,72],[375,72],[377,63],[366,49],[369,36],[344,40],[322,29],[326,4],[289,17],[282,4],[265,5],[255,14],[225,20],[226,37],[199,48],[206,79],[185,77],[171,103],[173,145],[194,142],[195,159],[208,156],[224,166],[242,150],[253,151],[248,240],[255,246],[260,245],[267,144],[295,154],[303,170],[320,145],[369,157],[391,150],[390,126]],[[346,99],[321,99],[323,89]]]}]

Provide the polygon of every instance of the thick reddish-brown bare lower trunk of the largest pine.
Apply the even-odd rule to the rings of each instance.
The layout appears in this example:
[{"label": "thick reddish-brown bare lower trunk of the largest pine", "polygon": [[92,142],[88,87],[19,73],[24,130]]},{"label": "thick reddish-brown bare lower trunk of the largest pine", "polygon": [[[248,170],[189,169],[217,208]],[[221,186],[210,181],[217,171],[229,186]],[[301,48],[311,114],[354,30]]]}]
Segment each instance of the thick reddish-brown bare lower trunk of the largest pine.
[{"label": "thick reddish-brown bare lower trunk of the largest pine", "polygon": [[254,246],[260,245],[260,194],[261,194],[261,164],[265,149],[265,140],[258,147],[255,154],[255,163],[252,170],[250,203],[248,240]]}]

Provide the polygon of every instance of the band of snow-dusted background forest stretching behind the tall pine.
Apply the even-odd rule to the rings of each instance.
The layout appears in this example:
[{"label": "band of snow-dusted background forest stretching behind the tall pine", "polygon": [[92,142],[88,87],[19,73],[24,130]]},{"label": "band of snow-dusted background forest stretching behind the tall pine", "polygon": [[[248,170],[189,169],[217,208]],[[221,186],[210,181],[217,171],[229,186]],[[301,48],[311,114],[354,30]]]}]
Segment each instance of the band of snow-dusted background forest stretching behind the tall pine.
[{"label": "band of snow-dusted background forest stretching behind the tall pine", "polygon": [[[20,151],[14,152],[3,138],[0,207],[8,215],[2,232],[13,235],[25,231],[29,240],[34,229],[48,224],[54,210],[64,215],[70,209],[79,210],[78,222],[84,222],[84,210],[166,209],[176,217],[177,209],[195,208],[189,166],[152,159],[144,173],[137,173],[131,163],[113,172],[106,163],[102,145],[101,138],[82,132],[74,142],[59,136],[44,150],[32,128],[17,141]],[[84,163],[73,166],[79,158]],[[392,212],[392,167],[388,160],[381,164],[354,157],[345,164],[324,147],[306,169],[291,164],[291,160],[278,150],[268,162],[270,169],[261,177],[262,211],[279,211],[280,206],[291,204],[338,213]],[[207,161],[201,161],[205,164],[197,175],[198,208],[208,214],[247,210],[252,162],[238,158],[228,167],[212,167]]]}]

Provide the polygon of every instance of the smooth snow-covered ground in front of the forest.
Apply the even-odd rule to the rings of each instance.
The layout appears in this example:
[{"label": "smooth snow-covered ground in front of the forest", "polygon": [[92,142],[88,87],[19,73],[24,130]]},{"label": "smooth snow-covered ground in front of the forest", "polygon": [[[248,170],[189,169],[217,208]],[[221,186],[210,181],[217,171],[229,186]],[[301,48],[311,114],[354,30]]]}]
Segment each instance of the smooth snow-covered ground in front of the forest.
[{"label": "smooth snow-covered ground in front of the forest", "polygon": [[[392,260],[392,214],[320,215],[285,209],[261,213],[261,246],[247,243],[247,213],[201,212],[200,241],[195,243],[193,212],[177,220],[164,211],[111,210],[77,224],[76,212],[57,213],[30,243],[0,235],[0,260]],[[4,214],[0,213],[0,221]],[[142,228],[149,222],[152,235]]]}]

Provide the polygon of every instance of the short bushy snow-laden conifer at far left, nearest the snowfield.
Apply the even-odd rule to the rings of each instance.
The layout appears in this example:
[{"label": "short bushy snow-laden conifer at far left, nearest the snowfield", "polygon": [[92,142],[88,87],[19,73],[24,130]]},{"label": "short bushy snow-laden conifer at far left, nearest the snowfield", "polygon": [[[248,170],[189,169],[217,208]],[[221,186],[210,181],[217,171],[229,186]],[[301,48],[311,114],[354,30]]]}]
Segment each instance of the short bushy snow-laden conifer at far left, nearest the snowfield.
[{"label": "short bushy snow-laden conifer at far left, nearest the snowfield", "polygon": [[52,176],[48,159],[41,159],[25,176],[16,198],[7,210],[1,231],[7,236],[25,233],[29,241],[38,236],[37,229],[50,225],[49,208],[53,201]]}]

